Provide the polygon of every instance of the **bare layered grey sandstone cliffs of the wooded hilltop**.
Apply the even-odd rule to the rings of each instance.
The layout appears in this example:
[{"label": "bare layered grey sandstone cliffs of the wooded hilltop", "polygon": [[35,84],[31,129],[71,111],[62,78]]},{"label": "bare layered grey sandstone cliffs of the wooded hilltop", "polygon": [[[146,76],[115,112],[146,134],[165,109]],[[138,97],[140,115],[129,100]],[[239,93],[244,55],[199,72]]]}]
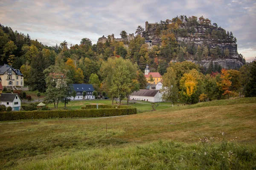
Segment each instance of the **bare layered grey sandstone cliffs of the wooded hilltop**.
[{"label": "bare layered grey sandstone cliffs of the wooded hilltop", "polygon": [[[186,60],[200,63],[205,68],[208,68],[210,62],[216,62],[218,65],[221,65],[222,68],[226,69],[238,69],[245,63],[243,57],[237,52],[236,38],[233,37],[232,32],[230,32],[232,35],[229,35],[229,32],[226,33],[223,28],[216,26],[217,24],[215,26],[211,24],[207,26],[188,26],[188,24],[186,25],[184,23],[181,22],[181,24],[178,25],[177,32],[180,32],[180,34],[175,35],[179,45],[186,47],[186,45],[189,44],[193,45],[195,48],[198,48],[198,46],[201,48],[207,46],[209,51],[210,49],[218,48],[220,53],[218,57],[209,56],[201,59],[194,59],[192,54],[190,57],[186,58]],[[160,32],[164,29],[167,29],[166,23],[164,25],[161,23],[150,24],[146,22],[143,37],[145,37],[145,40],[151,41],[152,45],[161,46],[162,34],[160,34]],[[227,40],[229,36],[231,40]],[[225,55],[225,50],[228,50],[228,55]]]}]

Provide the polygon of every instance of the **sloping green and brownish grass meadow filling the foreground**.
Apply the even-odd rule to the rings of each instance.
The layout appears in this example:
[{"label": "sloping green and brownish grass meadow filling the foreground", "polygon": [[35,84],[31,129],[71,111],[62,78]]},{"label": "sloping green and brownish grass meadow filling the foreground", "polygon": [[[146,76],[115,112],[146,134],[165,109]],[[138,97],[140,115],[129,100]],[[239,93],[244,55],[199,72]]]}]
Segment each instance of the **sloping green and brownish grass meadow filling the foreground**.
[{"label": "sloping green and brownish grass meadow filling the foreground", "polygon": [[0,169],[256,168],[256,98],[166,107],[108,119],[1,122]]}]

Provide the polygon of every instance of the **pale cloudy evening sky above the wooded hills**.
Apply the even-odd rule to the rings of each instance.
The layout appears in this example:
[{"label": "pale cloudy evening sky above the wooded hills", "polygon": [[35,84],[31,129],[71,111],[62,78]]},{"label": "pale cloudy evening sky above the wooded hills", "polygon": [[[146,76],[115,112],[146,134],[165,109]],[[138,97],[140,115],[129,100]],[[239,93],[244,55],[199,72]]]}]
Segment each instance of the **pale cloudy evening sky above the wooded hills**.
[{"label": "pale cloudy evening sky above the wooded hills", "polygon": [[238,52],[256,57],[256,0],[0,0],[0,23],[52,46],[84,37],[134,33],[137,26],[177,15],[204,16],[232,31]]}]

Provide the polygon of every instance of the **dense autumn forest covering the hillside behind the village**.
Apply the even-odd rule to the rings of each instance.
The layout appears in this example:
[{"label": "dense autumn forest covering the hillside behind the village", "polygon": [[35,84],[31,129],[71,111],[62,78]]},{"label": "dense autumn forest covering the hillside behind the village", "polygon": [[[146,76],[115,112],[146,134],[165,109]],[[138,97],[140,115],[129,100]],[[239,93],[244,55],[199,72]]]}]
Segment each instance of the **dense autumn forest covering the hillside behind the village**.
[{"label": "dense autumn forest covering the hillside behind the village", "polygon": [[[198,35],[195,29],[203,26],[207,29],[204,30],[203,34]],[[0,25],[0,64],[9,64],[13,68],[20,69],[24,75],[24,83],[29,86],[30,90],[45,92],[47,87],[51,85],[50,79],[47,79],[45,74],[48,73],[49,75],[52,72],[58,73],[52,78],[58,78],[59,75],[65,74],[70,83],[91,83],[95,90],[99,92],[112,87],[108,86],[106,82],[108,81],[106,78],[109,76],[108,73],[105,73],[108,70],[107,63],[111,65],[111,62],[113,64],[120,61],[110,59],[122,58],[125,61],[128,60],[128,62],[122,61],[123,65],[130,65],[131,62],[133,72],[137,72],[137,76],[134,75],[134,77],[136,77],[138,87],[145,88],[146,81],[143,72],[147,64],[151,72],[157,71],[163,75],[167,73],[167,68],[175,64],[170,62],[172,60],[183,62],[191,57],[194,60],[200,60],[202,58],[214,59],[229,55],[228,49],[221,52],[218,46],[210,48],[207,45],[207,39],[216,43],[236,43],[236,37],[233,37],[232,32],[226,32],[223,28],[218,27],[216,23],[212,24],[209,19],[204,19],[204,17],[199,19],[194,16],[188,18],[186,16],[175,17],[172,20],[160,21],[160,23],[154,24],[154,28],[147,29],[153,30],[154,34],[160,37],[158,45],[149,48],[148,44],[145,43],[145,39],[148,38],[147,32],[144,31],[144,28],[138,26],[135,32],[136,36],[129,41],[118,42],[108,36],[105,43],[92,44],[88,38],[82,38],[79,45],[68,45],[68,42],[64,40],[59,45],[49,47],[38,42],[38,40],[31,40],[29,34],[24,35],[13,31],[8,26]],[[177,42],[178,37],[187,37],[188,35],[204,38],[205,45],[196,47],[193,42],[186,44]],[[126,31],[121,31],[120,36],[128,38]],[[239,54],[239,56],[245,63],[242,55]],[[106,70],[102,68],[106,68]],[[200,75],[215,75],[222,72],[221,66],[213,64],[213,62],[210,62],[207,70],[200,65],[193,65],[192,69],[196,69]],[[120,68],[120,70],[122,69]],[[187,69],[184,73],[189,73],[189,70],[191,69]],[[241,70],[244,71],[244,68],[241,68]],[[125,70],[122,73],[125,73]],[[178,87],[183,74],[175,80]],[[229,72],[228,74],[235,73]],[[240,75],[240,72],[236,72],[236,74]],[[221,76],[221,74],[218,75]],[[116,75],[116,77],[120,77],[120,75]],[[243,86],[244,88],[245,86]],[[241,92],[241,87],[239,91]],[[236,93],[239,91],[236,91]],[[126,91],[125,94],[130,92],[131,89],[129,92]]]}]

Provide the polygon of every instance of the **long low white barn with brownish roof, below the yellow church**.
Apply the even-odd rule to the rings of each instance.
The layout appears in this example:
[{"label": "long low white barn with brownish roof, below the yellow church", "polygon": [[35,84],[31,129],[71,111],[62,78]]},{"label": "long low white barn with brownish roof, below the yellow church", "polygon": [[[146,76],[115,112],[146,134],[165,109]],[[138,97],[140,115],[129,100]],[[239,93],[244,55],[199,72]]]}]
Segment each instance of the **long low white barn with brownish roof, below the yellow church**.
[{"label": "long low white barn with brownish roof, below the yellow church", "polygon": [[140,90],[134,91],[130,95],[131,100],[143,100],[147,102],[162,102],[162,94],[159,90]]}]

